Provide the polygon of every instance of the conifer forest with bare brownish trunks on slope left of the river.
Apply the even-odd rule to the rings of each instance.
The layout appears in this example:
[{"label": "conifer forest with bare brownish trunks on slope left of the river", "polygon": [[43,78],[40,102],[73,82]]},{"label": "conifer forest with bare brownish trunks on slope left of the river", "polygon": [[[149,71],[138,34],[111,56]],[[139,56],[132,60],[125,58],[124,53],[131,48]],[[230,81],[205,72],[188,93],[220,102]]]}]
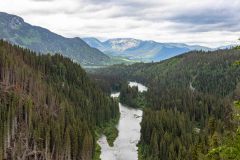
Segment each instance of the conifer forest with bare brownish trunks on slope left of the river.
[{"label": "conifer forest with bare brownish trunks on slope left of the river", "polygon": [[0,159],[90,160],[95,128],[119,116],[80,65],[4,41],[0,94]]}]

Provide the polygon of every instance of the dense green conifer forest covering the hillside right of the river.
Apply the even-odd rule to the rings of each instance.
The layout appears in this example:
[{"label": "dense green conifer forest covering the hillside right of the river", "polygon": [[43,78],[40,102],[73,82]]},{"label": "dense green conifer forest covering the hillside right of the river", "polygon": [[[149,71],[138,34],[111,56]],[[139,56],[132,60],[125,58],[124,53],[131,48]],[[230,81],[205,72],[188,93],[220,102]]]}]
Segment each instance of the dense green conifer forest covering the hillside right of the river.
[{"label": "dense green conifer forest covering the hillside right of the river", "polygon": [[158,63],[100,69],[94,78],[106,83],[109,79],[104,78],[121,77],[149,87],[139,159],[237,160],[237,154],[227,157],[221,151],[228,146],[233,155],[235,144],[233,151],[240,153],[239,140],[233,143],[239,138],[238,121],[233,118],[233,102],[240,99],[239,60],[236,48],[193,51]]}]

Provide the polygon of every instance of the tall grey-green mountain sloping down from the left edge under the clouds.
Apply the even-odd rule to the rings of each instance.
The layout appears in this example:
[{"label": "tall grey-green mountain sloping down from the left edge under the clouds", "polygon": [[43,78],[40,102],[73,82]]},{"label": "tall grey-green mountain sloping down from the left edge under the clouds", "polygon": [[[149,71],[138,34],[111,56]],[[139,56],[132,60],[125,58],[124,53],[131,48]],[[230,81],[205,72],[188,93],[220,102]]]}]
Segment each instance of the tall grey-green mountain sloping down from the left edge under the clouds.
[{"label": "tall grey-green mountain sloping down from the left edge under the clouds", "polygon": [[103,65],[110,58],[80,38],[65,38],[32,26],[21,17],[0,12],[0,39],[41,53],[61,53],[82,65]]}]

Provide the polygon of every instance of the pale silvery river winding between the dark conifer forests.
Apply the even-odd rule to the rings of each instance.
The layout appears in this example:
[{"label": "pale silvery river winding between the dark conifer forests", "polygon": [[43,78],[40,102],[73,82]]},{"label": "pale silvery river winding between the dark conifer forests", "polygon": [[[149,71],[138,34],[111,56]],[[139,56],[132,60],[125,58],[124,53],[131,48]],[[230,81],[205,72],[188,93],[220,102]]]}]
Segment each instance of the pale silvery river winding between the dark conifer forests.
[{"label": "pale silvery river winding between the dark conifer forests", "polygon": [[[147,91],[147,87],[137,82],[129,82],[129,86],[138,86],[139,92]],[[111,97],[118,97],[120,93],[112,93]],[[101,146],[101,160],[137,160],[137,144],[140,140],[140,123],[142,110],[134,109],[119,103],[120,120],[117,125],[119,131],[114,146],[110,147],[106,136],[98,140]]]}]

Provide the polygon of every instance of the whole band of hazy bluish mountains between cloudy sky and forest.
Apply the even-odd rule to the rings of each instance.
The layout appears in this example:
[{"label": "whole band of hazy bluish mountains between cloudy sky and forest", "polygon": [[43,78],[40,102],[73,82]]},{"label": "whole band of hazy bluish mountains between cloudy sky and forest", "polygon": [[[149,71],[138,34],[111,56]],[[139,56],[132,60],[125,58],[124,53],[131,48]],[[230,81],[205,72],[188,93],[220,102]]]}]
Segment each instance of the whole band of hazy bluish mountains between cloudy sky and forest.
[{"label": "whole band of hazy bluish mountains between cloudy sky and forest", "polygon": [[83,66],[139,61],[157,62],[192,50],[213,50],[200,45],[160,43],[133,38],[116,38],[106,41],[96,38],[66,38],[48,29],[28,24],[21,17],[4,12],[0,12],[0,39],[35,52],[61,53]]}]

